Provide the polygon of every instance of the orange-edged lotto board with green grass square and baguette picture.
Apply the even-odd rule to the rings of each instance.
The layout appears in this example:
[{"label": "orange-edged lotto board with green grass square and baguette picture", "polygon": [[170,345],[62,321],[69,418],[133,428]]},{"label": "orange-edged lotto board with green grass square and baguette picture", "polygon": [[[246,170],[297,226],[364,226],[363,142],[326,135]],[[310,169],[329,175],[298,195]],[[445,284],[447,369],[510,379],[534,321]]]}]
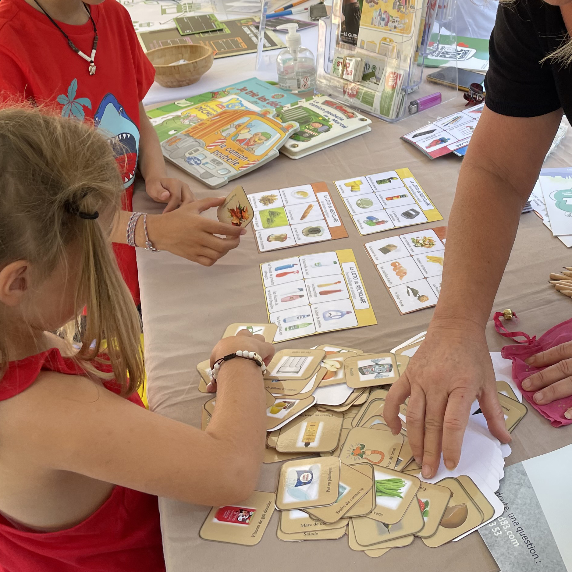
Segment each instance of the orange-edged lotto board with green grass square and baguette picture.
[{"label": "orange-edged lotto board with green grass square and baguette picture", "polygon": [[259,252],[345,239],[341,222],[324,182],[253,193],[253,229]]}]

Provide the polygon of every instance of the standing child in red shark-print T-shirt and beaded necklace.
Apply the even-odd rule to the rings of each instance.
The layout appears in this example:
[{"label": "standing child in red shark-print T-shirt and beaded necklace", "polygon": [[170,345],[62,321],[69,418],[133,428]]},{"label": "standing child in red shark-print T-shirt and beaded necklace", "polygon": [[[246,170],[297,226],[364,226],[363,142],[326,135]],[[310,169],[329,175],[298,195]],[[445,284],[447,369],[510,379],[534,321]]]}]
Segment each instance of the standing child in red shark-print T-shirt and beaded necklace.
[{"label": "standing child in red shark-print T-shirt and beaded necklace", "polygon": [[[137,167],[149,196],[167,203],[164,215],[147,218],[154,247],[210,266],[236,248],[244,233],[200,216],[219,206],[221,199],[193,203],[188,185],[167,177],[157,134],[142,105],[154,75],[128,11],[116,0],[0,2],[0,100],[50,102],[62,117],[94,121],[126,149],[118,157],[125,212],[118,217],[112,239],[137,304],[135,249],[126,244]],[[140,219],[136,225],[139,247],[145,247],[142,223]]]}]

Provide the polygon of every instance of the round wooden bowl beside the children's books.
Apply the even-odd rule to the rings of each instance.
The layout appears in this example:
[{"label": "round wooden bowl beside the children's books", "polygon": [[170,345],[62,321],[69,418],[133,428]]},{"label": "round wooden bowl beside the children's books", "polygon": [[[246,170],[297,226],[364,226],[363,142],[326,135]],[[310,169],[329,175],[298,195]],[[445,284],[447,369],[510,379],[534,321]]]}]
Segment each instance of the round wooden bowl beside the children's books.
[{"label": "round wooden bowl beside the children's books", "polygon": [[[210,47],[194,43],[158,47],[147,52],[155,68],[155,81],[164,88],[196,83],[213,65],[214,55]],[[180,59],[186,59],[188,63],[169,65]]]}]

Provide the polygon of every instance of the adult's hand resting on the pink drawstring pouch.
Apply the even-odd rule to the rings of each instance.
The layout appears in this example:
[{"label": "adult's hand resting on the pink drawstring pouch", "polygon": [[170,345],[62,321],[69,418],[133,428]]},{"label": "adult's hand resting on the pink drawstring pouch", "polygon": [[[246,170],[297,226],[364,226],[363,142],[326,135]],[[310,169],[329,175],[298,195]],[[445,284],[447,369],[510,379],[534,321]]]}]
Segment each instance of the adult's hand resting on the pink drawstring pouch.
[{"label": "adult's hand resting on the pink drawstring pouch", "polygon": [[[523,390],[536,392],[535,403],[546,405],[572,395],[572,341],[530,356],[525,362],[529,366],[546,367],[522,382]],[[572,407],[564,416],[572,419]]]}]

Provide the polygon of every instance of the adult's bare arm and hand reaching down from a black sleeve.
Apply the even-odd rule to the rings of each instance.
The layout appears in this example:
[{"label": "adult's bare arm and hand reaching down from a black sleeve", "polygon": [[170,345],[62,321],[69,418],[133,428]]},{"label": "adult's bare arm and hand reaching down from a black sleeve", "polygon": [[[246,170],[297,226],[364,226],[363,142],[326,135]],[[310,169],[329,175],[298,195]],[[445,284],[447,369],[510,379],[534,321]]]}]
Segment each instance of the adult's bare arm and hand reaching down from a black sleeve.
[{"label": "adult's bare arm and hand reaching down from a black sleeve", "polygon": [[387,395],[384,416],[407,435],[422,474],[435,474],[443,451],[459,462],[471,403],[478,398],[491,433],[510,440],[496,398],[484,328],[517,233],[523,204],[538,178],[562,110],[507,117],[486,107],[463,160],[447,230],[439,303],[427,336]]}]

